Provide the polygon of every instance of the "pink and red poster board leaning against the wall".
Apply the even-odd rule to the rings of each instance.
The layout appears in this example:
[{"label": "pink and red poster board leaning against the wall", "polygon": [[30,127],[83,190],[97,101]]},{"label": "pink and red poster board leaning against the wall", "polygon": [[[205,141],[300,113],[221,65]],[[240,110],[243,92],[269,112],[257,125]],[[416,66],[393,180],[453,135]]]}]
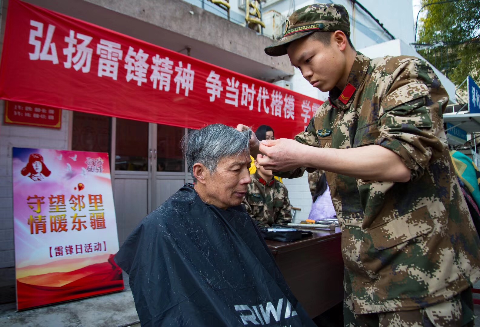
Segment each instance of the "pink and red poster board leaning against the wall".
[{"label": "pink and red poster board leaning against the wall", "polygon": [[17,308],[122,290],[108,154],[13,148],[12,160]]}]

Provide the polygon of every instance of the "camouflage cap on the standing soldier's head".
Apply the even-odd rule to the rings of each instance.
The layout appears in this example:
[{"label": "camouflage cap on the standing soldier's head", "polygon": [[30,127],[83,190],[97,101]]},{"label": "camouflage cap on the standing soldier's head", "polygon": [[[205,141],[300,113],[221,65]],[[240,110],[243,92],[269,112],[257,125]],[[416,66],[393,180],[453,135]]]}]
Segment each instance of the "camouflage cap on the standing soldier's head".
[{"label": "camouflage cap on the standing soldier's head", "polygon": [[350,21],[345,7],[334,3],[316,3],[295,11],[285,23],[283,37],[266,47],[265,53],[272,57],[286,55],[288,43],[317,31],[342,31],[350,36]]}]

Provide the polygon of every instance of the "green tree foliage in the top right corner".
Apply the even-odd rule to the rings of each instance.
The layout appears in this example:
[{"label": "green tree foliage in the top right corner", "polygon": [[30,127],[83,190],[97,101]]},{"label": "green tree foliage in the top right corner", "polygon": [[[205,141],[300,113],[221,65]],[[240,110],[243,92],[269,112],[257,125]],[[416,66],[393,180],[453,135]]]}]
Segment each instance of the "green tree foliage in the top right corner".
[{"label": "green tree foliage in the top right corner", "polygon": [[[422,6],[442,0],[422,0]],[[480,0],[458,0],[425,7],[418,43],[443,46],[419,50],[456,85],[468,75],[480,84]]]}]

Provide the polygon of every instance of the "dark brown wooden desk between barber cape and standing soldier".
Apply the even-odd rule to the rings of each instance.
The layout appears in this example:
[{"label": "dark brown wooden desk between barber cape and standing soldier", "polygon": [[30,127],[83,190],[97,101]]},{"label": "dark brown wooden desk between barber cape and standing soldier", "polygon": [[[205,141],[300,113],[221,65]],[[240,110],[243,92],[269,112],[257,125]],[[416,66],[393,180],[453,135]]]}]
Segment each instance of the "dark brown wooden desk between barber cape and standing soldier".
[{"label": "dark brown wooden desk between barber cape and standing soldier", "polygon": [[314,318],[343,300],[341,232],[305,230],[313,235],[290,243],[266,243],[293,294]]}]

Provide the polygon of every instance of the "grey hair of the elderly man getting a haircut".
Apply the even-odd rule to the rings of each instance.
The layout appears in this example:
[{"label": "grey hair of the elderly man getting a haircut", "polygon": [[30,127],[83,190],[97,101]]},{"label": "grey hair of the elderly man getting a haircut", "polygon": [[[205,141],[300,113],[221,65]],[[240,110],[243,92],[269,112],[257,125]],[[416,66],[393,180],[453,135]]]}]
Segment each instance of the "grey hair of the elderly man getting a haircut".
[{"label": "grey hair of the elderly man getting a haircut", "polygon": [[220,160],[225,157],[250,153],[249,140],[252,130],[239,132],[223,124],[212,124],[190,131],[181,141],[183,156],[192,174],[193,165],[202,163],[210,173],[214,173]]}]

